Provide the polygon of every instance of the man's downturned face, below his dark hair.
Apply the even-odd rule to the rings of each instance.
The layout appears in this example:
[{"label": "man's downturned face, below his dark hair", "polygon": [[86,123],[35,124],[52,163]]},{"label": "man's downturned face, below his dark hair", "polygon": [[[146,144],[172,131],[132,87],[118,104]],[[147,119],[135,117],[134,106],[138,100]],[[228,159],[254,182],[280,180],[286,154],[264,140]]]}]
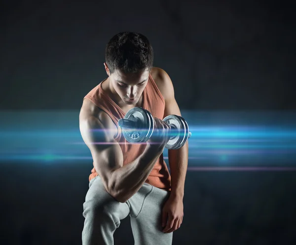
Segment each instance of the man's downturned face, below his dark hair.
[{"label": "man's downturned face, below his dark hair", "polygon": [[138,103],[144,88],[148,82],[149,71],[142,71],[137,74],[125,74],[116,70],[110,75],[110,81],[127,105],[135,105]]}]

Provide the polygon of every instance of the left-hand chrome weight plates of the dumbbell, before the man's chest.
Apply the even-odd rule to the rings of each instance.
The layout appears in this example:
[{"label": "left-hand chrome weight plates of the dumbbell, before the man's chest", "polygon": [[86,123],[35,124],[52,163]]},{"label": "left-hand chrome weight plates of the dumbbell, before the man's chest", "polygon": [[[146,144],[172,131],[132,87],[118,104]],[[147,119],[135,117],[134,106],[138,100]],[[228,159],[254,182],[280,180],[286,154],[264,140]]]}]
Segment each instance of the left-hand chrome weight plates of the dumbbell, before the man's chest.
[{"label": "left-hand chrome weight plates of the dumbbell, before the man's chest", "polygon": [[130,117],[133,118],[133,121],[136,118],[138,120],[137,124],[141,125],[141,128],[122,128],[124,138],[130,143],[146,142],[154,128],[151,114],[141,107],[135,107],[126,113],[124,119],[129,119]]}]

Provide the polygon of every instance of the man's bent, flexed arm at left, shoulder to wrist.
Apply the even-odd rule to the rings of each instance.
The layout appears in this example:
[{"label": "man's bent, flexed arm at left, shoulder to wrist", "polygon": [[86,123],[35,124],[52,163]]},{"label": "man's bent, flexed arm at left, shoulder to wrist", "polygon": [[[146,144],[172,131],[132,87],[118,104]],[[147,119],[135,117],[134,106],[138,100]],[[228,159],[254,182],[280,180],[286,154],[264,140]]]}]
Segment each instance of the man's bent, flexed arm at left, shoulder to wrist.
[{"label": "man's bent, flexed arm at left, shoulder to wrist", "polygon": [[105,189],[118,202],[125,203],[143,186],[163,149],[148,145],[135,161],[123,166],[121,148],[113,138],[117,132],[115,124],[87,99],[79,114],[79,127]]}]

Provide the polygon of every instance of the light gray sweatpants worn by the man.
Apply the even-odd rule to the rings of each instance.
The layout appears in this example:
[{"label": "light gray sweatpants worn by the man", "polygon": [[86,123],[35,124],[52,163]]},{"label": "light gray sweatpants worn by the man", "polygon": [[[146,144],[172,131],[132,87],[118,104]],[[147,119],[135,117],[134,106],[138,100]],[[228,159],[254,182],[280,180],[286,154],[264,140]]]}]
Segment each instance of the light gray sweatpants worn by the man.
[{"label": "light gray sweatpants worn by the man", "polygon": [[144,183],[126,203],[119,203],[106,191],[100,176],[91,179],[83,204],[82,245],[113,245],[113,233],[127,215],[135,245],[171,245],[173,232],[163,233],[161,227],[162,206],[169,195]]}]

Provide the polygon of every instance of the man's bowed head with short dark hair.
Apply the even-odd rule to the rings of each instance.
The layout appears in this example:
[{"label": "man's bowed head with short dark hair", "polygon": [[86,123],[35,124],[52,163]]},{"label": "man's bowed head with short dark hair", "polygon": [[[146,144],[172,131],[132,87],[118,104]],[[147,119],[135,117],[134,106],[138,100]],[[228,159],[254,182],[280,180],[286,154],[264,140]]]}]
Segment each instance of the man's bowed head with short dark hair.
[{"label": "man's bowed head with short dark hair", "polygon": [[153,66],[153,49],[148,39],[139,33],[116,34],[106,46],[105,59],[114,90],[125,104],[136,104]]}]

